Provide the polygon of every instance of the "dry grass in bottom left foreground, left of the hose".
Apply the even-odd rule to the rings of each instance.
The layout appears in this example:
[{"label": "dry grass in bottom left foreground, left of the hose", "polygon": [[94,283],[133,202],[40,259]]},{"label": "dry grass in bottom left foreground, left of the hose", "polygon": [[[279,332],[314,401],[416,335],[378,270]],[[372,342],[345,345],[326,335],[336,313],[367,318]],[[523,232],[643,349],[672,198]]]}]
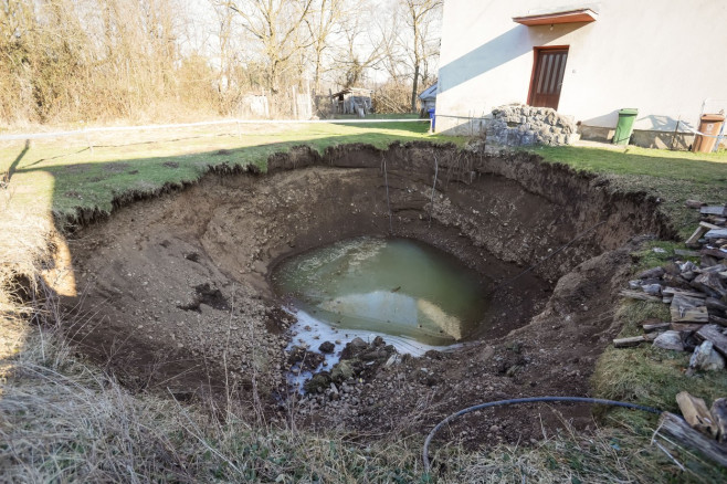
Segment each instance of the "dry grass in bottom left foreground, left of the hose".
[{"label": "dry grass in bottom left foreground, left of the hose", "polygon": [[54,334],[34,333],[0,397],[3,482],[411,482],[419,443],[373,449],[288,429],[251,427],[234,408],[133,396],[73,356]]}]

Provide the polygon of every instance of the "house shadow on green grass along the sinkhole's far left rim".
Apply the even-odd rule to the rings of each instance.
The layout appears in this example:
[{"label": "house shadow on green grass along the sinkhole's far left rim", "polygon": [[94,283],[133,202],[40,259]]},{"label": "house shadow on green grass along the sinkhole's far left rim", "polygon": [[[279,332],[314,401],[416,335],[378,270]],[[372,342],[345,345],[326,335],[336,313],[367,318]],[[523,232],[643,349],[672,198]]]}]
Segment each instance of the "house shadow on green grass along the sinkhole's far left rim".
[{"label": "house shadow on green grass along the sinkhole's far left rim", "polygon": [[[73,156],[87,148],[69,154],[65,160],[55,165],[38,166],[41,161],[53,160],[57,157],[44,157],[32,160],[30,165],[19,166],[28,147],[13,162],[13,172],[23,179],[18,180],[24,186],[33,186],[40,173],[52,178],[51,193],[42,193],[40,186],[33,187],[38,197],[50,196],[53,213],[56,219],[74,218],[77,210],[110,212],[114,199],[125,193],[154,193],[165,186],[192,182],[210,168],[229,166],[230,168],[244,168],[254,166],[260,171],[267,168],[267,159],[277,152],[288,151],[294,146],[306,145],[323,154],[330,146],[362,143],[377,148],[386,148],[393,141],[423,140],[421,134],[426,133],[426,125],[412,123],[392,123],[386,126],[387,130],[399,130],[401,134],[384,133],[355,133],[323,136],[319,138],[302,135],[298,139],[275,143],[260,143],[252,146],[233,147],[224,149],[202,149],[200,151],[154,156],[145,158],[118,157],[107,161],[94,161],[86,154],[83,159]],[[367,126],[365,126],[367,127]],[[380,125],[376,126],[381,128]],[[432,139],[438,141],[436,139]],[[440,140],[442,141],[442,140]],[[126,145],[124,145],[126,146]],[[102,148],[102,146],[96,146]],[[103,151],[102,151],[103,152]],[[98,155],[98,154],[97,154]]]}]

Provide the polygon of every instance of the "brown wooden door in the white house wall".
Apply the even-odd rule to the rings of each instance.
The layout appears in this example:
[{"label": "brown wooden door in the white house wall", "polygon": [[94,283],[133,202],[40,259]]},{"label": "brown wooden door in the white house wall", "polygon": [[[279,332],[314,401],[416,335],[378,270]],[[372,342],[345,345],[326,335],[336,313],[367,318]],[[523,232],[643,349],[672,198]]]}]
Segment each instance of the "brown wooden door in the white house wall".
[{"label": "brown wooden door in the white house wall", "polygon": [[568,48],[536,49],[528,104],[558,109]]}]

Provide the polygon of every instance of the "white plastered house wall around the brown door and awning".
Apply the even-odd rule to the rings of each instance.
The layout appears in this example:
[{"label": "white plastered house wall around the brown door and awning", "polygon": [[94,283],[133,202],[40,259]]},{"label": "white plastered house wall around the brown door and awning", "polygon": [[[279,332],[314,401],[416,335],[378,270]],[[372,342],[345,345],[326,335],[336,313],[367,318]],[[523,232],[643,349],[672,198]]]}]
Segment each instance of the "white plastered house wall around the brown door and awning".
[{"label": "white plastered house wall around the brown door and awning", "polygon": [[[598,20],[513,22],[571,8]],[[727,0],[445,0],[438,130],[527,103],[534,48],[548,45],[569,46],[558,112],[584,126],[613,128],[619,109],[636,107],[635,129],[673,131],[677,119],[697,126],[705,98],[727,108]]]}]

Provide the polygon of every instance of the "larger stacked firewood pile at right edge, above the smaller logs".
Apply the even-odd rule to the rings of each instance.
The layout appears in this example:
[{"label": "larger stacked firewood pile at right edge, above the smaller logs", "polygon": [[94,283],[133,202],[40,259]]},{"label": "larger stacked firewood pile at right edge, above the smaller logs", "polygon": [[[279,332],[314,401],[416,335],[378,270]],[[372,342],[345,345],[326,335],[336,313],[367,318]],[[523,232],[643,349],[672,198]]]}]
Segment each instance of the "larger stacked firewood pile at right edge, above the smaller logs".
[{"label": "larger stacked firewood pile at right edge, above the smaller logs", "polygon": [[[673,262],[643,271],[629,283],[624,297],[670,305],[671,320],[646,320],[644,334],[614,339],[617,348],[642,343],[693,353],[689,371],[716,371],[727,358],[727,206],[698,208],[703,221],[686,241],[692,250],[675,251]],[[687,257],[699,257],[698,265]]]}]

